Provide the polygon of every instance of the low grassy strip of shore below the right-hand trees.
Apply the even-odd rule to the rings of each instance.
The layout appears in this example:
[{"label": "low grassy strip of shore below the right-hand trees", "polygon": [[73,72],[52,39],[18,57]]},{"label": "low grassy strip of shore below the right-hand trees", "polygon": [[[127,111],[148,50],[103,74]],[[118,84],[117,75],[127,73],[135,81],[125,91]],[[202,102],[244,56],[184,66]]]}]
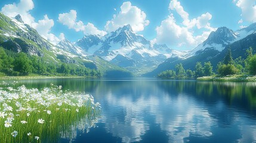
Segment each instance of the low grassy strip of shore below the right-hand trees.
[{"label": "low grassy strip of shore below the right-hand trees", "polygon": [[256,76],[248,75],[228,75],[220,76],[203,76],[198,77],[199,81],[230,81],[230,82],[256,82]]}]

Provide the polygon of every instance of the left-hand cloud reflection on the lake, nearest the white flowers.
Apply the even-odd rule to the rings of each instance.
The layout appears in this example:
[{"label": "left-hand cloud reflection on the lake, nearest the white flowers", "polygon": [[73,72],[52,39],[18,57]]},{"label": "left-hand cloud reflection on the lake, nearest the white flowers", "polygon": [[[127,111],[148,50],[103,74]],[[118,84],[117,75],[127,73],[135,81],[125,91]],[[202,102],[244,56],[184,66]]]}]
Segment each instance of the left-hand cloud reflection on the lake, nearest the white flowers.
[{"label": "left-hand cloud reflection on the lake, nearest the white flowers", "polygon": [[[113,136],[122,138],[122,142],[141,141],[141,136],[149,130],[149,125],[143,120],[143,111],[145,100],[143,97],[137,101],[132,101],[130,96],[120,97],[107,94],[107,102],[109,105],[103,109],[104,124],[108,132]],[[118,114],[115,114],[119,108]],[[124,116],[124,117],[122,117]]]}]

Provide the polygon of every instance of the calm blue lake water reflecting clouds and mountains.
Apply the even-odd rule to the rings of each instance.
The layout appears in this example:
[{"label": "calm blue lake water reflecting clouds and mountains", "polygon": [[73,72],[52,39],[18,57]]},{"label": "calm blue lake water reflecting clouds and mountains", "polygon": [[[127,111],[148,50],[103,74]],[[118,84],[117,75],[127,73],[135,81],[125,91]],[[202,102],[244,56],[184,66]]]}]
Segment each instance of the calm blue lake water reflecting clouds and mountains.
[{"label": "calm blue lake water reflecting clouds and mountains", "polygon": [[[73,142],[256,142],[256,83],[195,80],[20,80],[62,85],[100,102],[95,128]],[[69,142],[60,139],[60,142]]]}]

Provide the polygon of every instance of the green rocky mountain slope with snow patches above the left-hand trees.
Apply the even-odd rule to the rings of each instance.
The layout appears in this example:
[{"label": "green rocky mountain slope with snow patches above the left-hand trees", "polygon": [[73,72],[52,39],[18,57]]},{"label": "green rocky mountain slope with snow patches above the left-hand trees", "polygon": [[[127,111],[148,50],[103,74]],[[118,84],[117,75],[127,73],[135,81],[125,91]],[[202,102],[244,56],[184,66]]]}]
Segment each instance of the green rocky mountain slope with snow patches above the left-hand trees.
[{"label": "green rocky mountain slope with snow patches above the left-hand trees", "polygon": [[47,63],[85,66],[101,70],[103,73],[107,70],[124,71],[100,57],[88,56],[82,48],[67,40],[53,45],[42,38],[35,29],[24,24],[20,15],[10,18],[0,13],[0,46],[13,52],[25,52],[28,55],[42,57]]}]

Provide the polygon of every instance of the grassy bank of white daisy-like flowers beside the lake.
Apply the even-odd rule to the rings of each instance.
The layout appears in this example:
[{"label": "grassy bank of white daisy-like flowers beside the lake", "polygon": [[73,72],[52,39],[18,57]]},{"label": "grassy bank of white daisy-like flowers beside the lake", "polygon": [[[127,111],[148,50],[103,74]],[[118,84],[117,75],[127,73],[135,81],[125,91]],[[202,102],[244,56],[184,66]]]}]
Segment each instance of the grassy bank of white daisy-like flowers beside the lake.
[{"label": "grassy bank of white daisy-like flowers beside the lake", "polygon": [[91,95],[63,92],[61,86],[14,88],[1,83],[0,142],[58,142],[73,139],[76,130],[88,130],[100,116],[100,104]]}]

